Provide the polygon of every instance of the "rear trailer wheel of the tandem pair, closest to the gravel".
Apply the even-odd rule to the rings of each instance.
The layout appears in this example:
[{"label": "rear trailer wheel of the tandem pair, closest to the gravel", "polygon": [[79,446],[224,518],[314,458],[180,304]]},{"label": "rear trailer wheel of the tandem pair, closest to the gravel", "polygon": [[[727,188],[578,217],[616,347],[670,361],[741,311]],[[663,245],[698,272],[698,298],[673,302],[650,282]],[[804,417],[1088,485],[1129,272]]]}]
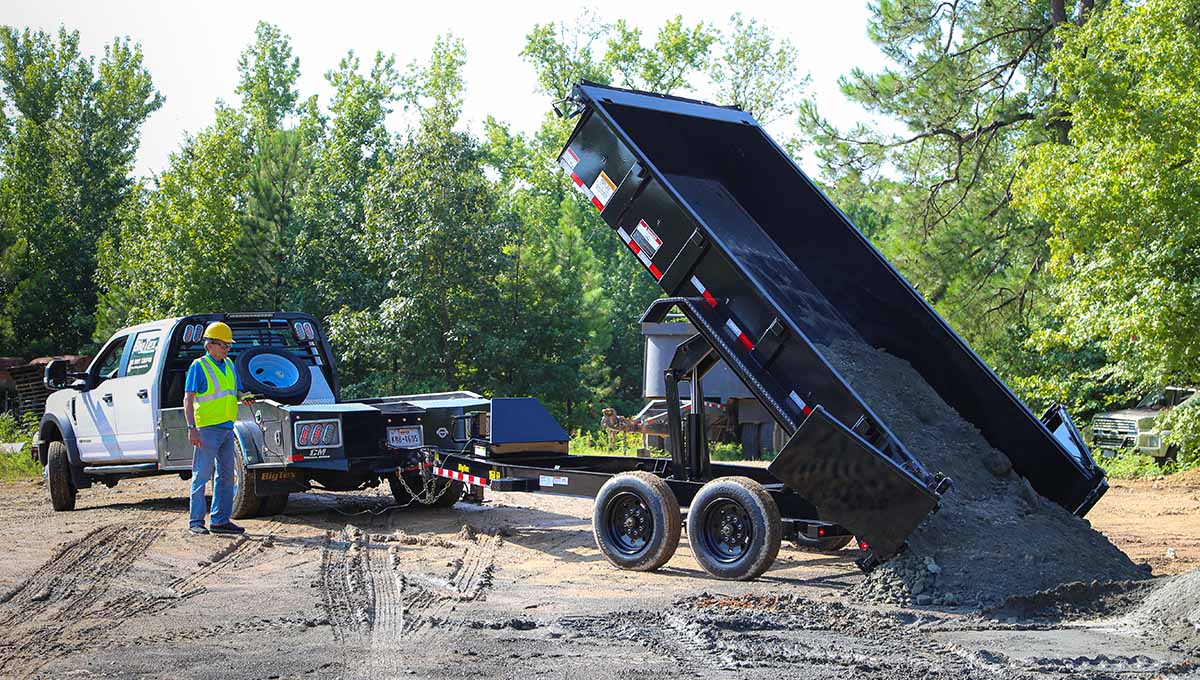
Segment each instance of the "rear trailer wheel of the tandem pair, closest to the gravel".
[{"label": "rear trailer wheel of the tandem pair, closest to the gravel", "polygon": [[782,540],[779,506],[749,477],[719,477],[688,510],[688,541],[701,568],[726,580],[750,580],[775,561]]}]

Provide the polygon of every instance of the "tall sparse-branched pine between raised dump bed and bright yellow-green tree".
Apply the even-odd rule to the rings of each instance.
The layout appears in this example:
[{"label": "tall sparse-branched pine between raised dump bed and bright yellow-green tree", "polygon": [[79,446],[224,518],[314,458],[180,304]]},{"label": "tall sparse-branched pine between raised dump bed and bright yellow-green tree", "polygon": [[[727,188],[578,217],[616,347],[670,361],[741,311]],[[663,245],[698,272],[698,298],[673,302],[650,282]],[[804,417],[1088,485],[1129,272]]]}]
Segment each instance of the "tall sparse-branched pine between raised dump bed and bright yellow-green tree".
[{"label": "tall sparse-branched pine between raised dump bed and bright yellow-green tree", "polygon": [[[1020,378],[1056,374],[1042,359],[1067,348],[1038,339],[1062,325],[1046,294],[1050,221],[1014,206],[1014,185],[1025,155],[1070,128],[1060,76],[1046,64],[1061,36],[1103,5],[881,0],[868,30],[892,66],[856,68],[841,82],[876,122],[838,130],[815,103],[802,107],[834,200],[851,205],[905,277],[1034,401],[1050,397],[1049,385]],[[1078,371],[1067,380],[1082,390],[1078,403],[1094,401],[1084,386],[1112,377],[1092,349],[1076,344],[1080,355],[1066,362]]]}]

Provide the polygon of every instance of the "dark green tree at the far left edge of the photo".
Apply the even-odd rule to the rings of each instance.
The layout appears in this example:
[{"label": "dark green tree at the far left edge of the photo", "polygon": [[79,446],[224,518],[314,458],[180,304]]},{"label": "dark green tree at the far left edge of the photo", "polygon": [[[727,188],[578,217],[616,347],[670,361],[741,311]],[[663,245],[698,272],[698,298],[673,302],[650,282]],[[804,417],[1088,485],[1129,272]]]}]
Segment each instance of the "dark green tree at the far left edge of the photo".
[{"label": "dark green tree at the far left edge of the photo", "polygon": [[0,29],[0,353],[78,351],[96,246],[138,206],[138,133],[162,97],[138,46],[115,40],[97,61],[65,29]]}]

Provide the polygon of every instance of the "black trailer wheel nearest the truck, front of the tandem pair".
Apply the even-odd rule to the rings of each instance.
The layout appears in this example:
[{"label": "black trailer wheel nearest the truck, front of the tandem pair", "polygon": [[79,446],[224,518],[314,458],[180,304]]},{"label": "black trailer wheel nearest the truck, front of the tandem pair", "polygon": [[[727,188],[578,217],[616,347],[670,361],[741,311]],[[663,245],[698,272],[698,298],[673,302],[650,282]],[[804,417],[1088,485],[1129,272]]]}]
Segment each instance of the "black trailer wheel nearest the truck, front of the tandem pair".
[{"label": "black trailer wheel nearest the truck, front of the tandem pair", "polygon": [[592,512],[592,531],[605,559],[632,571],[667,564],[682,528],[674,492],[644,471],[622,473],[605,482]]}]

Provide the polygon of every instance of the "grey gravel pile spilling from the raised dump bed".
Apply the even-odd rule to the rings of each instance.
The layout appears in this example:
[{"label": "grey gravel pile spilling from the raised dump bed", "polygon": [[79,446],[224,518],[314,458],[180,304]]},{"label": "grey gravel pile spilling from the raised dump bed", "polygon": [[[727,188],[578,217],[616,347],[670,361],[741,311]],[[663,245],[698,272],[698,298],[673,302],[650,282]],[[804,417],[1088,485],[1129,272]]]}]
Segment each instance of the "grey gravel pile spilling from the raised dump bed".
[{"label": "grey gravel pile spilling from the raised dump bed", "polygon": [[1064,583],[1148,576],[1086,519],[1038,495],[908,362],[857,343],[818,349],[928,470],[954,480],[908,549],[872,571],[857,596],[991,607]]}]

